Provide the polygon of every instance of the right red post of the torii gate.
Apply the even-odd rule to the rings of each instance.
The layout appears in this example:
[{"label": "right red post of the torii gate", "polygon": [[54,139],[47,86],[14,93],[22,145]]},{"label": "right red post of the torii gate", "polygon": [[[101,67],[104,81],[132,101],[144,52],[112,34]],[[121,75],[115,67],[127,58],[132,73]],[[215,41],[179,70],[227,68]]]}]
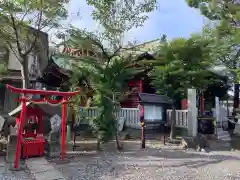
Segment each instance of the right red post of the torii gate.
[{"label": "right red post of the torii gate", "polygon": [[67,116],[67,98],[63,97],[62,104],[62,144],[61,144],[61,159],[64,159],[65,155],[65,143],[66,143],[66,116]]}]

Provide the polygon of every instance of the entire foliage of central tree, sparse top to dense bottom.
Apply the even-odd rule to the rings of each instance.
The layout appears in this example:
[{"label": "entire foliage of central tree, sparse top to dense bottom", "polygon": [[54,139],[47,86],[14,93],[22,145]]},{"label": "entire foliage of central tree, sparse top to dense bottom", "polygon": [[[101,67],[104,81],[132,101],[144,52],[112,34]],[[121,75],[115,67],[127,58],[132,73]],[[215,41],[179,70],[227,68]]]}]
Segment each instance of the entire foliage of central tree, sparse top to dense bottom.
[{"label": "entire foliage of central tree, sparse top to dense bottom", "polygon": [[82,72],[87,77],[94,91],[94,104],[99,107],[99,115],[93,119],[93,127],[98,139],[105,142],[114,134],[117,138],[115,115],[120,99],[128,90],[126,80],[142,72],[133,67],[134,58],[126,56],[122,50],[124,33],[145,22],[147,13],[156,7],[156,0],[142,3],[134,0],[87,0],[87,3],[94,8],[92,16],[100,23],[103,32],[96,35],[71,28],[62,37],[66,40],[65,46],[101,54],[96,57],[86,55],[65,58],[74,67],[73,73]]}]

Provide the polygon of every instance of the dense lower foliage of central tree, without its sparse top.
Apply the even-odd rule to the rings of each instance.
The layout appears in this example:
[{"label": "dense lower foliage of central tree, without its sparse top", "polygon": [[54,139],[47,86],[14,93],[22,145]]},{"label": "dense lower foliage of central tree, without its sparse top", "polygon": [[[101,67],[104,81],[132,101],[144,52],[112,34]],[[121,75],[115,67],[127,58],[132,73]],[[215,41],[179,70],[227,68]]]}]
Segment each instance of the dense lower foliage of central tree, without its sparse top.
[{"label": "dense lower foliage of central tree, without its sparse top", "polygon": [[[116,133],[115,114],[119,110],[119,102],[128,92],[127,80],[142,72],[141,68],[134,68],[134,58],[129,55],[123,58],[119,50],[111,52],[104,48],[96,35],[90,32],[71,29],[65,46],[82,48],[82,42],[89,43],[95,51],[102,52],[102,59],[91,56],[73,57],[65,55],[64,58],[73,68],[74,86],[79,86],[79,78],[87,77],[89,88],[94,91],[94,105],[99,107],[99,114],[92,119],[92,127],[98,139],[102,142],[110,140]],[[78,43],[79,42],[79,43]],[[90,45],[91,44],[91,45]],[[81,84],[81,89],[84,84]],[[79,103],[75,104],[79,108]]]}]

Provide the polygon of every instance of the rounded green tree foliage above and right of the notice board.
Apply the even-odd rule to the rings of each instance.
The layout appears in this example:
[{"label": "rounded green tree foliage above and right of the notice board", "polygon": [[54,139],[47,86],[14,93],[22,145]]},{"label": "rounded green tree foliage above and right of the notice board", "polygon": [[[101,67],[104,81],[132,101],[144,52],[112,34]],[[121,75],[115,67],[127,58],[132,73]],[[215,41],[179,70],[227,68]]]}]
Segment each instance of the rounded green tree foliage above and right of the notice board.
[{"label": "rounded green tree foliage above and right of the notice board", "polygon": [[158,93],[178,101],[186,97],[187,88],[204,90],[214,83],[208,70],[212,65],[208,44],[209,40],[198,34],[163,43],[151,74]]}]

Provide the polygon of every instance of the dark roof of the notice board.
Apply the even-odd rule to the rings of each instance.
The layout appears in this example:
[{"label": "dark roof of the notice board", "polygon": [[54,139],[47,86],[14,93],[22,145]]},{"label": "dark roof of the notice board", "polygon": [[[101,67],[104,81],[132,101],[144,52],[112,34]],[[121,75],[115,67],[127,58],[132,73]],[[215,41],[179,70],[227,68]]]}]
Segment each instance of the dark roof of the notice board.
[{"label": "dark roof of the notice board", "polygon": [[139,93],[139,98],[142,103],[150,104],[172,104],[172,100],[164,95]]}]

